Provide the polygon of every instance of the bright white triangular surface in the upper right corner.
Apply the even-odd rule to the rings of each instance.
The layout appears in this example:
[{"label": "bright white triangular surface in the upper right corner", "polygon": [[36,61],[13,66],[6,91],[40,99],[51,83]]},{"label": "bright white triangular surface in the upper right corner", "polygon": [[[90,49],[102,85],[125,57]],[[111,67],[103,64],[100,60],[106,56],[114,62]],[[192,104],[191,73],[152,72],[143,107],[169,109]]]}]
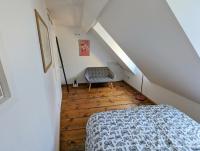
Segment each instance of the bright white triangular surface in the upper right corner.
[{"label": "bright white triangular surface in the upper right corner", "polygon": [[200,1],[167,0],[167,2],[200,56]]}]

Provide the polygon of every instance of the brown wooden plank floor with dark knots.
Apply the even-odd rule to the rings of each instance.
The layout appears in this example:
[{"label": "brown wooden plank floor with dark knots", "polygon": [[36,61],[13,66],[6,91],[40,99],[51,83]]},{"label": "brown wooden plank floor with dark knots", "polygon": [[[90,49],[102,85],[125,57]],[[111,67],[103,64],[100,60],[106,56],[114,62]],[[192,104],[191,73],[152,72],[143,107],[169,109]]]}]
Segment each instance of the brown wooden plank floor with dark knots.
[{"label": "brown wooden plank floor with dark knots", "polygon": [[85,127],[93,113],[153,104],[148,99],[135,100],[137,92],[124,82],[113,85],[97,85],[90,92],[87,85],[70,86],[69,93],[63,87],[60,151],[84,151]]}]

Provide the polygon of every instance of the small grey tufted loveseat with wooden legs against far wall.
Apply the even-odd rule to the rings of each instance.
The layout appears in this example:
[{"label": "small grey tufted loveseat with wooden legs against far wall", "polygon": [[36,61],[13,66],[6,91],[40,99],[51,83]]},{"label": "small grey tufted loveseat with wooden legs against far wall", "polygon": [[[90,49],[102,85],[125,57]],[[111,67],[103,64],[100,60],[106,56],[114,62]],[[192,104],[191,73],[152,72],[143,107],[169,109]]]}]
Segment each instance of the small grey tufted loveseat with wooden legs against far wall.
[{"label": "small grey tufted loveseat with wooden legs against far wall", "polygon": [[111,82],[112,85],[114,74],[108,67],[89,67],[85,70],[85,78],[90,84],[90,91],[92,83]]}]

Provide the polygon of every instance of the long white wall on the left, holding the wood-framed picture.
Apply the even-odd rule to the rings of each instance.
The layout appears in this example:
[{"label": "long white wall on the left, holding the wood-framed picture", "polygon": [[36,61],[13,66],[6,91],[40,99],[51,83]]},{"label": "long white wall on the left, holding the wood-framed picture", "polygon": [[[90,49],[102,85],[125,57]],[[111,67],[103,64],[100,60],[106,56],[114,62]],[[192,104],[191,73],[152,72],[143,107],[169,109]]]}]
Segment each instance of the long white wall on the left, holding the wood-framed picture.
[{"label": "long white wall on the left, holding the wood-framed picture", "polygon": [[[52,40],[53,65],[44,74],[34,8],[48,23],[44,1],[2,0],[0,5],[0,59],[12,95],[0,105],[2,151],[59,148],[61,88],[56,45]],[[49,29],[52,39],[53,27]]]}]

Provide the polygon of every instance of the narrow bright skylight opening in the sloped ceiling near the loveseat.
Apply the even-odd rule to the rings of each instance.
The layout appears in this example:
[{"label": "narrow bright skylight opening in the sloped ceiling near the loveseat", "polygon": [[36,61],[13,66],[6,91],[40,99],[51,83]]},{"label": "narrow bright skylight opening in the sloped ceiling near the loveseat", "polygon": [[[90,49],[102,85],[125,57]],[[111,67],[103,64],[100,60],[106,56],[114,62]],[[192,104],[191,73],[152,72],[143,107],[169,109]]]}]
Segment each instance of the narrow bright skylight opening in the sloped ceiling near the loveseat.
[{"label": "narrow bright skylight opening in the sloped ceiling near the loveseat", "polygon": [[131,70],[132,73],[136,74],[137,66],[133,61],[126,55],[121,49],[117,42],[109,35],[109,33],[103,28],[100,23],[97,23],[93,29],[98,35],[106,42],[106,44],[115,52],[115,54],[124,62],[124,64]]}]

